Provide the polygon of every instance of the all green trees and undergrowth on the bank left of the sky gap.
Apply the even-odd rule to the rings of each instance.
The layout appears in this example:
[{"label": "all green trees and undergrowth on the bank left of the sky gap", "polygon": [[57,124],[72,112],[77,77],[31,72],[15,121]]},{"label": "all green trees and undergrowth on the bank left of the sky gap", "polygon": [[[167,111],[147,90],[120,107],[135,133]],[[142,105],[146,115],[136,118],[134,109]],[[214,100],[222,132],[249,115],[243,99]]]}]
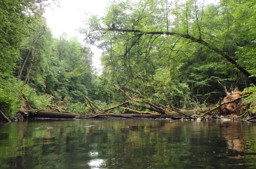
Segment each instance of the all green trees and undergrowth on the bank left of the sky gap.
[{"label": "all green trees and undergrowth on the bank left of the sky gap", "polygon": [[92,54],[76,38],[67,40],[65,33],[53,39],[43,17],[48,4],[0,2],[0,102],[9,118],[22,105],[22,95],[36,109],[49,101],[84,102],[81,92],[95,97]]}]

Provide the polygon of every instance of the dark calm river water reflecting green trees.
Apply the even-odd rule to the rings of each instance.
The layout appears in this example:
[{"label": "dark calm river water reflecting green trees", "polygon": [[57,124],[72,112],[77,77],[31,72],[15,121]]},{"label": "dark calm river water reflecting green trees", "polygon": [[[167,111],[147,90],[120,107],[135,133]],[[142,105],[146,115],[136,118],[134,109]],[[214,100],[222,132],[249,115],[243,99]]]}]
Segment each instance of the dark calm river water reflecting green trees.
[{"label": "dark calm river water reflecting green trees", "polygon": [[0,168],[256,168],[256,124],[167,119],[0,123]]}]

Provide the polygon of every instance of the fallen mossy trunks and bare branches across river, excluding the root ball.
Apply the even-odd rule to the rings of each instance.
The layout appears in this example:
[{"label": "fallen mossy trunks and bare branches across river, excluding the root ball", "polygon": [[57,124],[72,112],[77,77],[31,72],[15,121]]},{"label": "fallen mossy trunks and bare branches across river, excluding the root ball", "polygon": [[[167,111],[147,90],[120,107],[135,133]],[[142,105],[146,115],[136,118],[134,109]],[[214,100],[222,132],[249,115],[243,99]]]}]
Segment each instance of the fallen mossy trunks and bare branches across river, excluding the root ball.
[{"label": "fallen mossy trunks and bare branches across river, excluding the root ball", "polygon": [[[132,98],[130,97],[124,90],[120,89],[117,85],[113,84],[123,96],[127,99],[125,102],[120,103],[117,106],[109,107],[107,109],[101,109],[97,106],[93,101],[91,101],[87,96],[83,93],[82,95],[88,101],[88,107],[93,112],[87,114],[76,114],[69,111],[62,110],[54,105],[47,105],[50,109],[33,109],[26,97],[25,99],[25,108],[21,111],[23,112],[23,116],[28,118],[58,118],[58,119],[89,119],[89,118],[171,118],[171,119],[194,119],[196,120],[196,116],[205,115],[204,111],[208,111],[209,108],[200,108],[200,109],[191,109],[191,110],[184,110],[184,109],[177,109],[174,107],[167,107],[161,104],[153,103],[150,101],[143,101],[140,98]],[[136,90],[134,90],[136,91]],[[138,91],[136,91],[138,93]],[[142,96],[140,94],[140,96]],[[138,111],[135,109],[131,109],[129,107],[124,107],[126,103],[132,102],[135,106],[139,106],[144,108],[145,111]],[[126,110],[130,112],[130,114],[113,114],[107,113],[111,110]],[[97,110],[97,111],[96,111]],[[149,111],[148,111],[149,110]],[[131,114],[132,113],[132,114]]]}]

